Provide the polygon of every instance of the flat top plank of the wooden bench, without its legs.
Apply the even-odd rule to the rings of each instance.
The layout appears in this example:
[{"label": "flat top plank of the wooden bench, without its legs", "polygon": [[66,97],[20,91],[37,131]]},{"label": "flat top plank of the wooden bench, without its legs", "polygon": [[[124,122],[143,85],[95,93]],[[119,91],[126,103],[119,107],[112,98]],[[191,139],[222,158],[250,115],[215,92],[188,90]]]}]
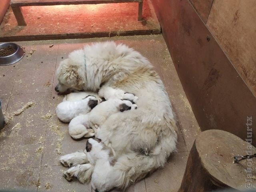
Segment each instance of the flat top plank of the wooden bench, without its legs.
[{"label": "flat top plank of the wooden bench, without its legs", "polygon": [[11,6],[79,5],[102,3],[131,3],[143,0],[11,0]]}]

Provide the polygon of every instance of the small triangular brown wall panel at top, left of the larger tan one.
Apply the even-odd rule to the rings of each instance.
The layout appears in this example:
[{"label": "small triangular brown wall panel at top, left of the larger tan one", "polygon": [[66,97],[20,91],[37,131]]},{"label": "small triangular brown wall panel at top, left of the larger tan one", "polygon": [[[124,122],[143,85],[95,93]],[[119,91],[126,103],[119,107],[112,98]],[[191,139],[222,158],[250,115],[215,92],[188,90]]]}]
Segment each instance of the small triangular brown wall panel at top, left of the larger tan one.
[{"label": "small triangular brown wall panel at top, left of the larger tan one", "polygon": [[213,0],[190,0],[204,23],[206,23]]}]

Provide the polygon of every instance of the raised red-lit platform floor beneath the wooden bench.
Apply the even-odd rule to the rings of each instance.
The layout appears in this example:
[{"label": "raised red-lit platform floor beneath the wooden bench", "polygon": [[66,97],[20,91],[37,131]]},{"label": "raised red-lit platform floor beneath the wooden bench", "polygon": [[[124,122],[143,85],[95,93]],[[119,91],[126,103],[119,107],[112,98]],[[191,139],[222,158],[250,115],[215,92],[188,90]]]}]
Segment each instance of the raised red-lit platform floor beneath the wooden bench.
[{"label": "raised red-lit platform floor beneath the wooden bench", "polygon": [[138,3],[22,7],[27,26],[18,26],[11,9],[0,25],[0,41],[89,38],[159,34],[160,24],[150,0]]}]

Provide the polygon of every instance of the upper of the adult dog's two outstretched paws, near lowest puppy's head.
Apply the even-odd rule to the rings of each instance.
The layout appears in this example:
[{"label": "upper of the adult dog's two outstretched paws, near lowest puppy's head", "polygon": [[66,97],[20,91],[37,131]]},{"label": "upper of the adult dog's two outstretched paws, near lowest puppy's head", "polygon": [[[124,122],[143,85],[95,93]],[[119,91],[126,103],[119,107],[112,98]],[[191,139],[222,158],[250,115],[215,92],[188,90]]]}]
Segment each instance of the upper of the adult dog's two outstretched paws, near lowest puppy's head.
[{"label": "upper of the adult dog's two outstretched paws, near lowest puppy's head", "polygon": [[64,167],[72,167],[88,161],[86,154],[81,151],[61,156],[59,160],[60,164],[62,164]]}]

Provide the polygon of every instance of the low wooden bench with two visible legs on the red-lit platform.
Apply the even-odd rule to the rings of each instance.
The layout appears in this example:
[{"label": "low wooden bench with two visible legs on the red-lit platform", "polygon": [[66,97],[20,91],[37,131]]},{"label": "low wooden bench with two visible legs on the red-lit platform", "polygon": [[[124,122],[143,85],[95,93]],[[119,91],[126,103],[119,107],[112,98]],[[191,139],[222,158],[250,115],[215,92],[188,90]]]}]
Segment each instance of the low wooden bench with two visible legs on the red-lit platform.
[{"label": "low wooden bench with two visible legs on the red-lit platform", "polygon": [[142,20],[143,0],[11,0],[11,7],[19,26],[26,26],[22,14],[23,6],[50,6],[50,5],[80,5],[80,4],[103,4],[103,3],[139,3],[138,21]]}]

